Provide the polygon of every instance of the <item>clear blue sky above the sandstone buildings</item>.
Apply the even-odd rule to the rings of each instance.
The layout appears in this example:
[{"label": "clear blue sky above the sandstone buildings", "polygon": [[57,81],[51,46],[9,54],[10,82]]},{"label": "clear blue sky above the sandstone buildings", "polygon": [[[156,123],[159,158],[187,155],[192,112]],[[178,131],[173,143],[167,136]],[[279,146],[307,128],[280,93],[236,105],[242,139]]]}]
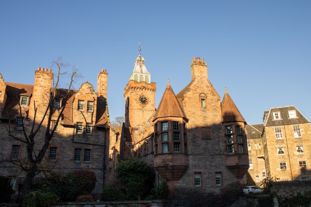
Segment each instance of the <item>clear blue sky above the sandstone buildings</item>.
[{"label": "clear blue sky above the sandstone buildings", "polygon": [[0,73],[6,82],[33,84],[38,67],[62,56],[85,61],[75,89],[88,81],[96,90],[97,74],[107,70],[113,121],[124,116],[123,89],[141,42],[156,106],[167,79],[177,94],[200,57],[221,100],[226,86],[249,124],[289,105],[311,120],[310,11],[309,0],[0,1]]}]

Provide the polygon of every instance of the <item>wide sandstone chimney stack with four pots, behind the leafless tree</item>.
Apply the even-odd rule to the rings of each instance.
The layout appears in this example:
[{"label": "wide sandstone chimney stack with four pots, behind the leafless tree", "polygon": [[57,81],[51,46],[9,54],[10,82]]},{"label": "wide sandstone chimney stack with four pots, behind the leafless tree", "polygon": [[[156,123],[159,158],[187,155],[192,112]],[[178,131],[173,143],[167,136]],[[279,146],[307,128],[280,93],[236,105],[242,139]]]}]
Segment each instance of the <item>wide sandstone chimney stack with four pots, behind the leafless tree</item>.
[{"label": "wide sandstone chimney stack with four pots, behind the leafless tree", "polygon": [[40,68],[35,71],[35,83],[32,97],[29,103],[29,118],[33,118],[35,107],[38,108],[37,117],[39,118],[43,111],[46,110],[47,102],[51,92],[53,73],[51,69]]}]

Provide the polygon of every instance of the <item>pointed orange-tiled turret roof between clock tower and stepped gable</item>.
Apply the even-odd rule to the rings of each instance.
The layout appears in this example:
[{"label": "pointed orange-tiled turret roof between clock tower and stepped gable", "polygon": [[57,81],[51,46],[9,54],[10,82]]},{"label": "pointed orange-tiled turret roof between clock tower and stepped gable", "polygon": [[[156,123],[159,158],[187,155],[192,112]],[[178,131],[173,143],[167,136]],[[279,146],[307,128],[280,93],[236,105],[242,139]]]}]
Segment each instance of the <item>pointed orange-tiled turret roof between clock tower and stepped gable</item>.
[{"label": "pointed orange-tiled turret roof between clock tower and stepped gable", "polygon": [[161,98],[158,109],[156,110],[153,121],[161,117],[184,117],[187,119],[186,114],[180,106],[173,89],[169,85],[169,79],[167,79],[167,86]]}]

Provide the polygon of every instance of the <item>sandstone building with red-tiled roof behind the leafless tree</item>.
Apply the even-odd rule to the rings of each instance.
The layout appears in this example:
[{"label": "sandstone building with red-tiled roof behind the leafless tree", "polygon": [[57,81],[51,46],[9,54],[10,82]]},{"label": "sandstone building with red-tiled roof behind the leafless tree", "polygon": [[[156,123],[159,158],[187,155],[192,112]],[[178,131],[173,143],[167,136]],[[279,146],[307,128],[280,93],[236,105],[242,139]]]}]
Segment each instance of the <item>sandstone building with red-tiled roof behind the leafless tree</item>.
[{"label": "sandstone building with red-tiled roof behind the leafless tree", "polygon": [[[51,123],[43,119],[42,126],[35,137],[35,153],[38,155],[43,146],[45,129],[50,131],[57,124],[59,113],[63,110],[59,123],[55,126],[53,139],[42,161],[46,169],[67,173],[74,169],[87,169],[96,173],[96,190],[101,190],[108,179],[109,114],[107,106],[107,76],[102,70],[98,74],[97,92],[86,82],[79,90],[70,90],[69,98],[63,99],[68,90],[56,88],[59,96],[53,106]],[[12,178],[13,187],[19,191],[25,179],[25,172],[15,164],[27,161],[25,144],[26,134],[30,134],[34,117],[35,126],[44,116],[53,91],[53,73],[51,69],[35,70],[34,85],[4,82],[0,74],[0,174]],[[35,114],[34,103],[37,108]],[[21,107],[19,107],[21,106]],[[8,131],[19,139],[8,136]],[[23,141],[24,140],[24,141]],[[42,167],[41,166],[41,167]],[[37,176],[42,176],[40,173]]]}]

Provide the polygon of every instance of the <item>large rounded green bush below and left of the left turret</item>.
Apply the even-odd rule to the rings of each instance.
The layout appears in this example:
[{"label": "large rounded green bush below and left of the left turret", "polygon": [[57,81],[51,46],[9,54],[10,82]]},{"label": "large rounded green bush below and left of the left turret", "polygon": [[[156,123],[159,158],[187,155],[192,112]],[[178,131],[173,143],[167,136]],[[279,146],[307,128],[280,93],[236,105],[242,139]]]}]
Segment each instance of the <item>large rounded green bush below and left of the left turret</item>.
[{"label": "large rounded green bush below and left of the left turret", "polygon": [[125,184],[127,200],[143,200],[153,188],[153,170],[142,159],[122,160],[115,170],[118,178]]}]

